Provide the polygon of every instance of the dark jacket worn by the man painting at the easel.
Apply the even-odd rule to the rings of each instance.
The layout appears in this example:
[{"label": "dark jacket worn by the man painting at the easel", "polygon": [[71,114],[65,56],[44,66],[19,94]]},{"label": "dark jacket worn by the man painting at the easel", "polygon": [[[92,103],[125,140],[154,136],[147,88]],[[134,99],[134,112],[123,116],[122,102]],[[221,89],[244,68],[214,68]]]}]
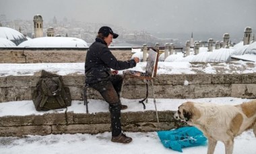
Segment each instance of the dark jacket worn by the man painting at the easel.
[{"label": "dark jacket worn by the man painting at the easel", "polygon": [[109,80],[111,69],[125,70],[136,66],[135,60],[120,61],[110,52],[106,42],[96,38],[86,54],[86,83],[93,84],[102,80]]}]

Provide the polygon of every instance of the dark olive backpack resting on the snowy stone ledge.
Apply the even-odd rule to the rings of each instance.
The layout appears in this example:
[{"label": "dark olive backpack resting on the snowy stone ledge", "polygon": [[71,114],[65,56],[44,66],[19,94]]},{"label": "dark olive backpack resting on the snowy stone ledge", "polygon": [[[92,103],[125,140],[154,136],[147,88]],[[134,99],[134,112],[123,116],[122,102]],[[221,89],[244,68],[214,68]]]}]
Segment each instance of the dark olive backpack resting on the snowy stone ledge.
[{"label": "dark olive backpack resting on the snowy stone ledge", "polygon": [[40,80],[32,92],[36,110],[53,110],[71,106],[71,94],[61,76],[42,70]]}]

